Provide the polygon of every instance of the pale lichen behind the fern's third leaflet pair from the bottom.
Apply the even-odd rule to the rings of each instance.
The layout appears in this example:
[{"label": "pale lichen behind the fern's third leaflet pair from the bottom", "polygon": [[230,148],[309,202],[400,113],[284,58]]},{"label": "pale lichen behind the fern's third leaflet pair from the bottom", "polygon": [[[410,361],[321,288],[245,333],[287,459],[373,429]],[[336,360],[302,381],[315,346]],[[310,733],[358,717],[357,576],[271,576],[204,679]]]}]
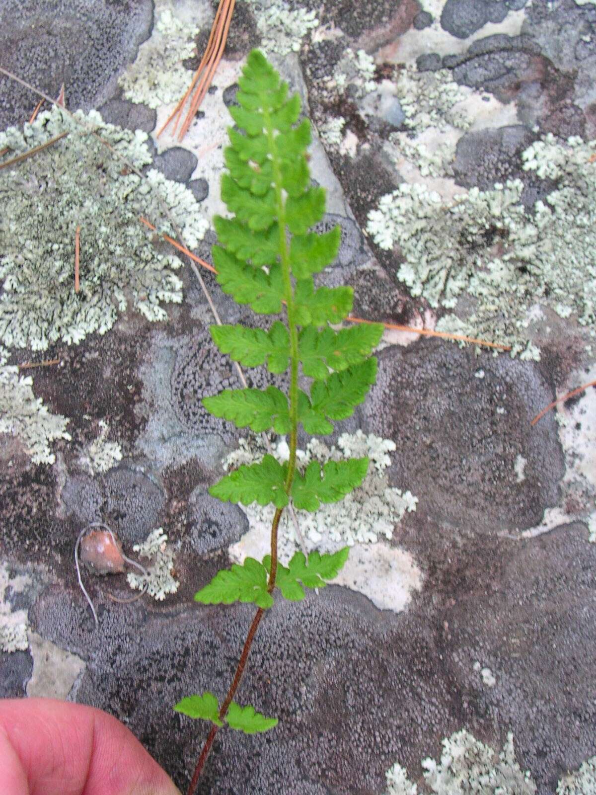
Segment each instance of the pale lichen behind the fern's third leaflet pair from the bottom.
[{"label": "pale lichen behind the fern's third leaflet pair from the bottom", "polygon": [[[416,510],[418,499],[409,491],[390,487],[387,467],[391,463],[389,452],[395,450],[391,440],[383,440],[370,433],[358,430],[354,434],[339,436],[337,447],[329,447],[319,439],[312,439],[305,450],[297,452],[297,466],[304,471],[312,460],[325,463],[343,460],[350,456],[368,456],[370,466],[362,486],[350,492],[342,502],[323,505],[315,513],[296,510],[296,518],[308,549],[332,551],[342,545],[357,542],[374,543],[379,537],[391,538],[393,529],[409,511]],[[230,469],[242,463],[261,460],[265,448],[261,437],[240,440],[238,450],[230,453],[224,468]],[[273,456],[284,461],[288,458],[288,444],[284,439],[272,445]],[[253,503],[241,506],[251,527],[271,525],[272,506],[261,507]],[[287,519],[282,521],[281,557],[290,556],[296,549],[297,539],[294,525]]]}]

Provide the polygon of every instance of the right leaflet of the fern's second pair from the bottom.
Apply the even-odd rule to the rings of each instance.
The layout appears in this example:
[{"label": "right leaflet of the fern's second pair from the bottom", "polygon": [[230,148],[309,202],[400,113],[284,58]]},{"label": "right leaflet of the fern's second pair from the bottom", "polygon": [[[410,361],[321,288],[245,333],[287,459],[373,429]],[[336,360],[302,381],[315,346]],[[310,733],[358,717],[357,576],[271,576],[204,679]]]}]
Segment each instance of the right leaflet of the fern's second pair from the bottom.
[{"label": "right leaflet of the fern's second pair from the bottom", "polygon": [[[325,580],[333,580],[350,553],[349,547],[343,547],[332,555],[313,551],[308,555],[308,562],[301,552],[296,552],[289,562],[289,566],[277,564],[275,587],[279,588],[284,599],[290,602],[300,602],[304,599],[304,588],[325,588]],[[267,572],[271,568],[271,556],[265,555],[263,565]],[[302,583],[302,585],[300,584]]]}]

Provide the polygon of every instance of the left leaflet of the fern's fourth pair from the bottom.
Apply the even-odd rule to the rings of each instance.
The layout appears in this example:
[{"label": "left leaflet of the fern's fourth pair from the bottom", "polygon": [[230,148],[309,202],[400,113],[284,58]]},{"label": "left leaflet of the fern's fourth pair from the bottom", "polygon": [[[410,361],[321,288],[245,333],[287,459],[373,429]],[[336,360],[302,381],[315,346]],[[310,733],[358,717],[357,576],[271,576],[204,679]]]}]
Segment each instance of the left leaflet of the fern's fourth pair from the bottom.
[{"label": "left leaflet of the fern's fourth pair from the bottom", "polygon": [[289,433],[288,397],[268,386],[266,390],[223,390],[213,397],[203,397],[203,405],[214,417],[233,422],[238,428],[248,427],[255,433],[268,431]]}]

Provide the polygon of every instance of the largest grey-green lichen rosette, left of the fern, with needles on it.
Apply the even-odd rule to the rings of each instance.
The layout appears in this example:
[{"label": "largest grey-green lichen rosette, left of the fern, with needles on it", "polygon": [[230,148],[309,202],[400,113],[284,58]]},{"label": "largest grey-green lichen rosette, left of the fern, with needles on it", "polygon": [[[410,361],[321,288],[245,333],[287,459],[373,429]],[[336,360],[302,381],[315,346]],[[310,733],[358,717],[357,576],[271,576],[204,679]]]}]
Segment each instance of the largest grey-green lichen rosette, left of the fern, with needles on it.
[{"label": "largest grey-green lichen rosette, left of the fern, with needles on it", "polygon": [[[104,124],[95,111],[77,111],[137,169],[151,162],[145,133]],[[6,159],[68,136],[0,172],[0,343],[45,350],[61,340],[79,343],[108,331],[130,304],[148,320],[165,320],[162,303],[182,300],[174,273],[180,260],[162,254],[139,216],[175,235],[163,205],[195,246],[207,230],[199,205],[184,185],[150,170],[145,180],[127,173],[98,138],[59,109],[40,114],[22,130],[0,133]],[[80,290],[75,293],[75,231],[80,227]]]}]

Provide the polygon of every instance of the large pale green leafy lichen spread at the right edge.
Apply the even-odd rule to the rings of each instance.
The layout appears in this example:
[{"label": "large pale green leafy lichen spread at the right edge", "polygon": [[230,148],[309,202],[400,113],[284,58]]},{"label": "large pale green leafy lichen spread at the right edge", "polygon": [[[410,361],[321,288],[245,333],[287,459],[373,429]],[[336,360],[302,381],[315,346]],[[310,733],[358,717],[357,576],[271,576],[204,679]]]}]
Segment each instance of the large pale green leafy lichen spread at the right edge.
[{"label": "large pale green leafy lichen spread at the right edge", "polygon": [[575,314],[594,333],[594,146],[547,136],[524,152],[525,170],[557,180],[532,212],[521,204],[521,180],[449,200],[424,185],[401,184],[370,211],[367,230],[382,249],[400,246],[405,262],[397,275],[413,296],[456,310],[439,321],[439,331],[511,345],[512,355],[536,359],[527,332],[536,304]]}]

